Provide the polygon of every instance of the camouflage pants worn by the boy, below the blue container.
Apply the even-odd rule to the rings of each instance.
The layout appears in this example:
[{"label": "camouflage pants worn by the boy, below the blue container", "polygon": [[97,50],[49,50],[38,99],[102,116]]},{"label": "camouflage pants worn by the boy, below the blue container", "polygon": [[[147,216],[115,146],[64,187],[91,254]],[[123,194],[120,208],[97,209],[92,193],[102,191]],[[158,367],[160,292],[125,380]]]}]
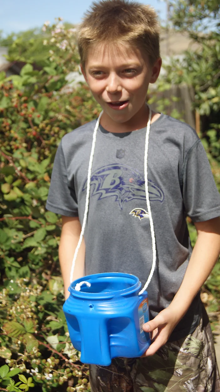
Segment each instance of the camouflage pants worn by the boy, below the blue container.
[{"label": "camouflage pants worn by the boy, below the blue container", "polygon": [[90,365],[90,383],[92,392],[220,392],[207,315],[192,334],[166,343],[153,356]]}]

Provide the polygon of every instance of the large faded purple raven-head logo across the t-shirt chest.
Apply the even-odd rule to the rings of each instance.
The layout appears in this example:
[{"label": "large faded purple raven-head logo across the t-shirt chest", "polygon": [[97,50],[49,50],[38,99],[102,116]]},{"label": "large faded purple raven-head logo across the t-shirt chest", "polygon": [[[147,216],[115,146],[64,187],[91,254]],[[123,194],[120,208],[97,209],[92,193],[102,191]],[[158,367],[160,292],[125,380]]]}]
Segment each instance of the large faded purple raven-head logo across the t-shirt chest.
[{"label": "large faded purple raven-head logo across the t-shirt chest", "polygon": [[[121,209],[130,200],[146,201],[144,175],[127,165],[115,163],[101,167],[91,175],[90,185],[91,196],[98,195],[98,200],[114,196]],[[86,188],[87,181],[82,190]],[[151,180],[148,180],[148,191],[150,200],[164,200],[164,192]]]}]

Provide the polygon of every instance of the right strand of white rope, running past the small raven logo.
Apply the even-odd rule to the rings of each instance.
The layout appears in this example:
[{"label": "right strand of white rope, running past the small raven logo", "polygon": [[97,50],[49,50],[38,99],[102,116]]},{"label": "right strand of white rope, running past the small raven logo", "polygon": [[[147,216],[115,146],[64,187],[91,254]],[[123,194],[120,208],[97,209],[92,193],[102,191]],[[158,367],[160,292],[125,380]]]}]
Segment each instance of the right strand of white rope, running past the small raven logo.
[{"label": "right strand of white rope, running past the small raven logo", "polygon": [[145,181],[147,211],[149,214],[149,221],[150,221],[150,228],[151,228],[153,263],[152,263],[151,272],[149,274],[149,277],[148,277],[143,289],[138,293],[138,295],[143,294],[144,290],[147,289],[147,286],[149,285],[149,283],[151,281],[151,278],[152,278],[154,270],[155,270],[155,265],[156,265],[156,241],[155,241],[153,218],[152,218],[152,214],[151,214],[151,205],[150,205],[149,191],[148,191],[148,177],[147,177],[147,156],[148,156],[148,144],[149,144],[149,134],[150,134],[150,127],[151,127],[151,115],[152,115],[151,108],[149,106],[148,106],[148,108],[149,108],[149,117],[148,117],[148,122],[147,122],[147,131],[146,131],[146,139],[145,139],[145,152],[144,152],[144,181]]}]

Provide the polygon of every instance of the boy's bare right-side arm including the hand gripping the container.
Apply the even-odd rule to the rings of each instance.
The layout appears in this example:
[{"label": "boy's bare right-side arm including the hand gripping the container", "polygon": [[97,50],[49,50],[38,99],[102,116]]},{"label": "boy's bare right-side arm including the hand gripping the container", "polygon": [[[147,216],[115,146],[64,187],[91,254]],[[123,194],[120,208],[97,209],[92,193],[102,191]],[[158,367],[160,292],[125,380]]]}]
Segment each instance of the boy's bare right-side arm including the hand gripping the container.
[{"label": "boy's bare right-side arm including the hand gripping the container", "polygon": [[143,356],[150,356],[164,345],[171,332],[189,309],[193,298],[213,269],[220,254],[220,217],[195,223],[198,232],[195,247],[182,284],[171,304],[153,320],[145,323],[145,332],[152,332],[153,343]]}]

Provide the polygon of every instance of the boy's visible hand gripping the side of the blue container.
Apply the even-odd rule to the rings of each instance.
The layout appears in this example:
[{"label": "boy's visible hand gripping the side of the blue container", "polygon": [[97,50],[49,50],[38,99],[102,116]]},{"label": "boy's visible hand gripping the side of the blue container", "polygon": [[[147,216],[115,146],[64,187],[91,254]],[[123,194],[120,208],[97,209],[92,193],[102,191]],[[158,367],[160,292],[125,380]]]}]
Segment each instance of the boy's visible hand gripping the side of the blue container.
[{"label": "boy's visible hand gripping the side of the blue container", "polygon": [[178,317],[174,312],[171,312],[169,307],[162,310],[153,320],[148,321],[143,325],[143,330],[145,332],[151,332],[151,345],[147,351],[142,355],[142,357],[147,357],[155,354],[155,352],[162,347],[171,332],[178,324]]}]

